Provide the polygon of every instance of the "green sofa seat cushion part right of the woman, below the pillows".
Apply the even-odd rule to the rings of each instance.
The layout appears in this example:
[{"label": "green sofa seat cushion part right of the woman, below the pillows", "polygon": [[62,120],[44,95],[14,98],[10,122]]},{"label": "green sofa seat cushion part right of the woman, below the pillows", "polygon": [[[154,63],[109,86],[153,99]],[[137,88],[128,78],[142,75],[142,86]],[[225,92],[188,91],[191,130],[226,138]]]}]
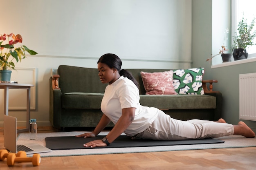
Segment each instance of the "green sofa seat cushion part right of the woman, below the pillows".
[{"label": "green sofa seat cushion part right of the woman, below the pillows", "polygon": [[216,108],[216,97],[210,95],[140,95],[139,102],[159,109]]}]

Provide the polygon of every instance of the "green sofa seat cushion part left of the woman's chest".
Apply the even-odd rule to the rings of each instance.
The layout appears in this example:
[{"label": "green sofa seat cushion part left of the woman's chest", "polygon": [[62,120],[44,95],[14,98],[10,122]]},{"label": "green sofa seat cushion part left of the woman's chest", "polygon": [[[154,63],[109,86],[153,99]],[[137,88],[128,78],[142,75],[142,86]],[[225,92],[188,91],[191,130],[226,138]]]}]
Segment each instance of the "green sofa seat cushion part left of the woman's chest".
[{"label": "green sofa seat cushion part left of the woman's chest", "polygon": [[61,95],[62,108],[100,109],[103,93],[65,93]]}]

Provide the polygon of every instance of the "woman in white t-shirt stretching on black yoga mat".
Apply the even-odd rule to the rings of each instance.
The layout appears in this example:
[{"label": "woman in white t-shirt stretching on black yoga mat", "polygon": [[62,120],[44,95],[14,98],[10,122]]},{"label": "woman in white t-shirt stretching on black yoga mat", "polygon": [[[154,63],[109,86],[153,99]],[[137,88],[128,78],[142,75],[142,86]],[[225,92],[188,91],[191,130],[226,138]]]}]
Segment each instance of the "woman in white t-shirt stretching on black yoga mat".
[{"label": "woman in white t-shirt stretching on black yoga mat", "polygon": [[139,104],[139,85],[130,72],[121,69],[121,59],[115,54],[99,58],[98,70],[102,83],[108,83],[102,102],[103,115],[93,132],[76,137],[96,137],[112,121],[115,126],[102,140],[84,144],[85,147],[107,146],[121,133],[133,139],[185,140],[243,135],[255,137],[255,133],[243,122],[227,124],[224,119],[206,121],[193,119],[181,121],[171,118],[157,108]]}]

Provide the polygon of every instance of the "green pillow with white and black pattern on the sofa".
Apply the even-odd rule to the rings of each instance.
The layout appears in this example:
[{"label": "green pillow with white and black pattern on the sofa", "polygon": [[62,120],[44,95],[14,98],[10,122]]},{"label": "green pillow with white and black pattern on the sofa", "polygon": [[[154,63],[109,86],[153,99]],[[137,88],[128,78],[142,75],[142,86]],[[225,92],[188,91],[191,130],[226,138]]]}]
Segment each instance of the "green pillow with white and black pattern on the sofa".
[{"label": "green pillow with white and black pattern on the sofa", "polygon": [[203,95],[204,68],[173,70],[173,86],[180,95]]}]

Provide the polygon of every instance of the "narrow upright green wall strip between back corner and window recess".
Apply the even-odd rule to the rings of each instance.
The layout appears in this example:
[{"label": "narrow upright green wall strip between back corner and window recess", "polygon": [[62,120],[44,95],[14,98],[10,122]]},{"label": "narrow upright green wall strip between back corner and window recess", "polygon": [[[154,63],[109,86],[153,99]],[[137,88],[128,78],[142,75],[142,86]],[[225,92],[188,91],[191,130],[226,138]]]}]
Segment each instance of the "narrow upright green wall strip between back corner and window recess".
[{"label": "narrow upright green wall strip between back corner and window recess", "polygon": [[205,62],[212,49],[211,13],[211,0],[192,0],[192,66],[205,68],[204,79],[212,79],[211,63]]}]

